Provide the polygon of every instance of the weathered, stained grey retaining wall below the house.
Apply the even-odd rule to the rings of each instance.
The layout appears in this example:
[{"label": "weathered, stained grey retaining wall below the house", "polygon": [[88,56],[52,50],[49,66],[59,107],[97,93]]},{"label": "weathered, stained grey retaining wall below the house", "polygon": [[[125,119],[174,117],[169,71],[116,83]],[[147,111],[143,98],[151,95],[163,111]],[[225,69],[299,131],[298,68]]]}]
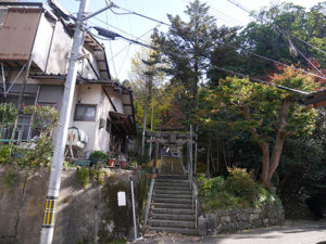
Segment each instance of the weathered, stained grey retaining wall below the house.
[{"label": "weathered, stained grey retaining wall below the house", "polygon": [[[17,171],[14,183],[5,185],[9,170],[0,167],[0,243],[39,243],[49,172]],[[83,189],[76,170],[63,171],[57,208],[53,244],[105,242],[133,239],[133,211],[129,177],[134,176],[137,217],[140,218],[147,179],[138,171],[110,172],[105,184],[92,181]],[[118,207],[116,193],[126,192],[127,206]]]}]

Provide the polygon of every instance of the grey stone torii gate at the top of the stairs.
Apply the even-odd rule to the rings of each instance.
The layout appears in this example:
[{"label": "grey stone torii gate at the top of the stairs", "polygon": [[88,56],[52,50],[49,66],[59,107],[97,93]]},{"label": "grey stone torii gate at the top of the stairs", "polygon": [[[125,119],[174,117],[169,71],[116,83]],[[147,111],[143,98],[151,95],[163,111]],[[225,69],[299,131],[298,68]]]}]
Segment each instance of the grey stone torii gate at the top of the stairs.
[{"label": "grey stone torii gate at the top of the stairs", "polygon": [[[147,130],[146,133],[151,137],[148,139],[147,142],[154,143],[154,164],[152,168],[152,172],[156,174],[156,164],[158,164],[158,156],[159,156],[159,149],[160,146],[168,145],[168,144],[176,144],[181,145],[187,144],[187,165],[188,165],[188,176],[189,179],[192,177],[192,144],[197,142],[196,139],[197,134],[192,133],[192,127],[190,126],[190,133],[183,133],[183,132],[174,132],[174,131],[149,131]],[[195,153],[195,165],[197,164],[197,152]]]}]

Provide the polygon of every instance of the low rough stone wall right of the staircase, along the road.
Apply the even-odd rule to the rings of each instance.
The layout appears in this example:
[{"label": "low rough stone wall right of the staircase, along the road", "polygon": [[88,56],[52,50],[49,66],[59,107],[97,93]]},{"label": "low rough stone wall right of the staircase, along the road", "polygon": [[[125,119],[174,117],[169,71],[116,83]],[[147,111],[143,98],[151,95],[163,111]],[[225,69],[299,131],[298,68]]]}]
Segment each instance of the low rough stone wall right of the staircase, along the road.
[{"label": "low rough stone wall right of the staircase, along the road", "polygon": [[227,233],[268,226],[281,226],[284,221],[285,213],[280,204],[256,208],[216,210],[199,217],[199,232],[201,235]]}]

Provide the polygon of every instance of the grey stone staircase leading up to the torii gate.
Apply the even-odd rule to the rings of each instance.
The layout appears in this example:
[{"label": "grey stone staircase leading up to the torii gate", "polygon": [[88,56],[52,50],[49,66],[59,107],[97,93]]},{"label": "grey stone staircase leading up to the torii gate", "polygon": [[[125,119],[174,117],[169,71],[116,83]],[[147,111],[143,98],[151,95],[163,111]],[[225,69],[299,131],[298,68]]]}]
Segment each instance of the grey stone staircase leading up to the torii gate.
[{"label": "grey stone staircase leading up to the torii gate", "polygon": [[149,211],[150,231],[197,234],[190,183],[185,175],[158,175]]}]

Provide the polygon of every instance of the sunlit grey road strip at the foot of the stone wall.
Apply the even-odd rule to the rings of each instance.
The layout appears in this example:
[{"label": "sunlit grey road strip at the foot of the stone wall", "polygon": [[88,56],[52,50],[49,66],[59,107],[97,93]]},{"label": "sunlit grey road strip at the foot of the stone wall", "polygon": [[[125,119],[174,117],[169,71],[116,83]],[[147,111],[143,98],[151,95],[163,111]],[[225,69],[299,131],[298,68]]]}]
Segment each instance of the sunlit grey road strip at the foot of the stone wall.
[{"label": "sunlit grey road strip at the foot of the stone wall", "polygon": [[235,234],[187,236],[149,233],[136,243],[141,244],[326,244],[326,220],[287,221],[283,227],[241,231]]}]

